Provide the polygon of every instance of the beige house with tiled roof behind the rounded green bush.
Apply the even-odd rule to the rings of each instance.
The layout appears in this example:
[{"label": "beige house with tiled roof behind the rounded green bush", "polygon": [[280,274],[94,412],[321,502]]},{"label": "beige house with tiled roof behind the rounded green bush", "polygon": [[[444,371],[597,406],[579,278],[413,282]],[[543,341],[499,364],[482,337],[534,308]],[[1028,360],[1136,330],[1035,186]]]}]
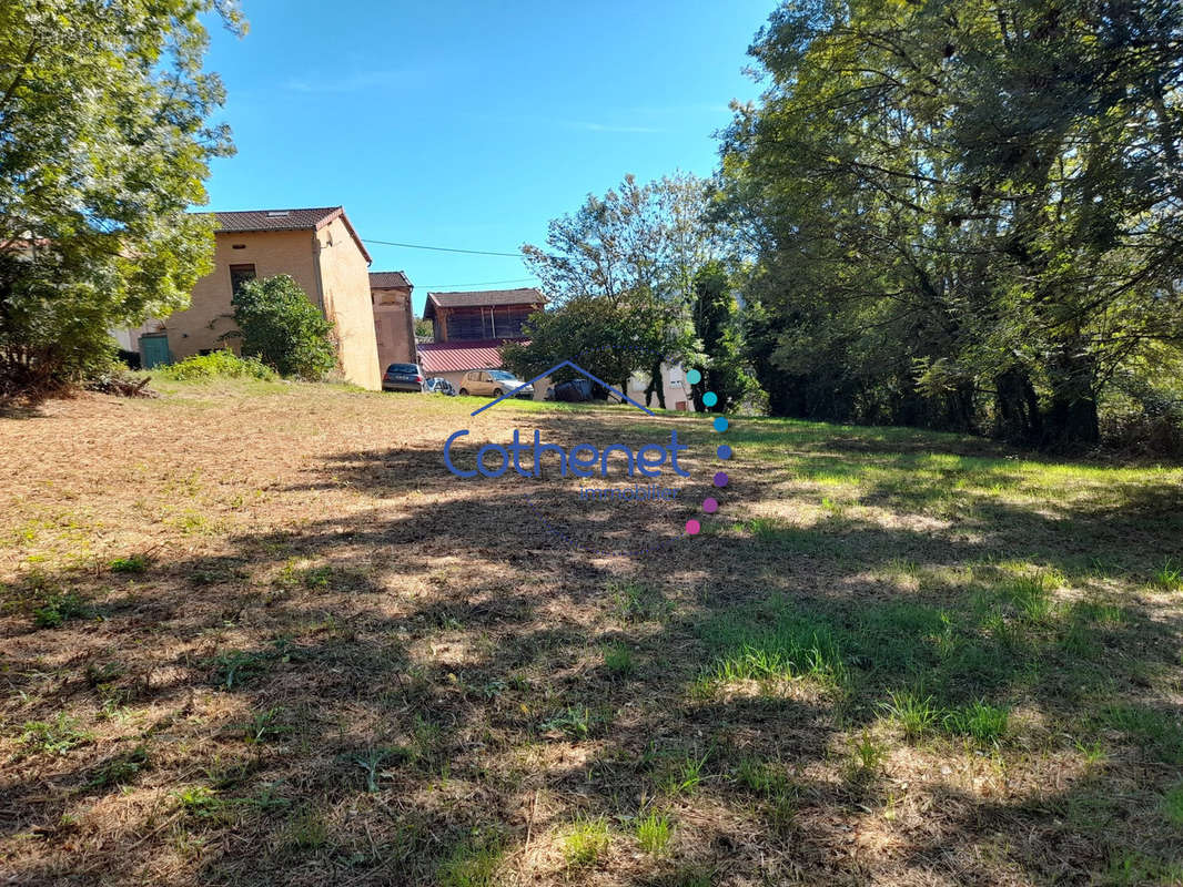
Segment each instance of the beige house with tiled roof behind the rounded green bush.
[{"label": "beige house with tiled roof behind the rounded green bush", "polygon": [[332,322],[342,375],[377,390],[370,255],[342,207],[214,213],[214,270],[193,287],[189,309],[137,332],[144,367],[219,348],[238,351],[231,297],[246,280],[287,274]]}]

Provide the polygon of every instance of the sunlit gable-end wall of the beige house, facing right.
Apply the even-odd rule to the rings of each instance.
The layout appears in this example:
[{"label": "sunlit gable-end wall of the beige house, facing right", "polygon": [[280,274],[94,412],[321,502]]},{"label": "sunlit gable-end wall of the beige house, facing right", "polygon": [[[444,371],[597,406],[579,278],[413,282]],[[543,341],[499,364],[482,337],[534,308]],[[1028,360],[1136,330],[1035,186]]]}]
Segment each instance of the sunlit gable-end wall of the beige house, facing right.
[{"label": "sunlit gable-end wall of the beige house, facing right", "polygon": [[382,373],[368,263],[340,216],[315,237],[324,316],[334,323],[341,370],[349,382],[376,391]]}]

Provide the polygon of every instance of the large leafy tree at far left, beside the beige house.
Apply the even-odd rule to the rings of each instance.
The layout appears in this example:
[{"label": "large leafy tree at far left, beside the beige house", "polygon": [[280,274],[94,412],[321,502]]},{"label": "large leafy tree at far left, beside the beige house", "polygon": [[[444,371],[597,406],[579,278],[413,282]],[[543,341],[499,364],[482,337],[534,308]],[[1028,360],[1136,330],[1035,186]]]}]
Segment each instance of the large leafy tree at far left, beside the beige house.
[{"label": "large leafy tree at far left, beside the beige house", "polygon": [[106,330],[188,304],[211,270],[201,13],[219,0],[0,5],[0,395],[38,396],[109,360]]}]

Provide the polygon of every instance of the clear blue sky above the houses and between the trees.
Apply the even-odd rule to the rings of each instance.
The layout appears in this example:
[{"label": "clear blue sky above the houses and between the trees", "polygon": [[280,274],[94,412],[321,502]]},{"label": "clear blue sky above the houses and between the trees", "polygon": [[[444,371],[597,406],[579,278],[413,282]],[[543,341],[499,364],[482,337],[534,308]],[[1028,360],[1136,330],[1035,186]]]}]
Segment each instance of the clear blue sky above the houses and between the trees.
[{"label": "clear blue sky above the houses and between the trees", "polygon": [[[211,209],[341,203],[362,238],[517,252],[625,173],[709,174],[775,2],[243,6],[245,38],[212,28],[238,154],[213,164]],[[517,258],[367,246],[419,312],[428,290],[531,284]]]}]

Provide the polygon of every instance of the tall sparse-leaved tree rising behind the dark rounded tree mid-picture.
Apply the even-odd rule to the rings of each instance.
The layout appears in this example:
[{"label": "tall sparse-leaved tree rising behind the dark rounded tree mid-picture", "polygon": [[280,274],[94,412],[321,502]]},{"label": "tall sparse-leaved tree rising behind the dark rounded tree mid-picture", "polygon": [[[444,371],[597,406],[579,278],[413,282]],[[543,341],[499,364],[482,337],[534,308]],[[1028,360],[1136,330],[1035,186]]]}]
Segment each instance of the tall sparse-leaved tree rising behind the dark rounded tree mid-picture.
[{"label": "tall sparse-leaved tree rising behind the dark rounded tree mid-picture", "polygon": [[[697,355],[690,302],[698,267],[719,250],[704,224],[706,186],[687,174],[638,184],[626,175],[603,198],[550,222],[545,248],[526,244],[525,263],[561,309],[592,297],[633,324],[621,344],[647,343],[647,401],[665,407],[661,363]],[[582,309],[581,309],[582,310]],[[633,354],[641,354],[633,351]]]}]

